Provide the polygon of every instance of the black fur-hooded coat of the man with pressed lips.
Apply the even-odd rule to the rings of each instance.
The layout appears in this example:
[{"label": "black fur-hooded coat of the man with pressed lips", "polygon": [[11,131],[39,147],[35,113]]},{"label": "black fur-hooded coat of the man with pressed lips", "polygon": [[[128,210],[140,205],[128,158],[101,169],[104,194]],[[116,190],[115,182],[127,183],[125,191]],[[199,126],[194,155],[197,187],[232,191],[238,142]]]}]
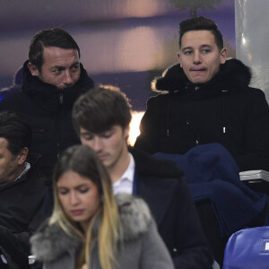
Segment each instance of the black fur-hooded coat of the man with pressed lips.
[{"label": "black fur-hooded coat of the man with pressed lips", "polygon": [[184,154],[196,144],[221,143],[240,170],[269,170],[269,107],[265,93],[248,87],[251,73],[230,59],[210,82],[193,84],[172,65],[152,82],[167,91],[147,102],[135,146]]}]

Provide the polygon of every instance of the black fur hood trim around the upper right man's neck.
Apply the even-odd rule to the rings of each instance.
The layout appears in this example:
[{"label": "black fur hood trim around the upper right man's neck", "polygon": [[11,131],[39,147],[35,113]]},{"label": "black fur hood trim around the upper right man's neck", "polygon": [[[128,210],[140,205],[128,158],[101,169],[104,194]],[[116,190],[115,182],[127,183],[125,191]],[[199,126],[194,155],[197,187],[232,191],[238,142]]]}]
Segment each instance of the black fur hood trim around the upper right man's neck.
[{"label": "black fur hood trim around the upper right man's neck", "polygon": [[213,79],[204,84],[189,82],[183,69],[176,64],[169,66],[160,77],[156,77],[152,81],[152,91],[181,91],[184,93],[199,87],[202,92],[216,94],[221,91],[245,90],[250,81],[250,69],[237,59],[227,60],[225,64],[221,65],[220,71]]}]

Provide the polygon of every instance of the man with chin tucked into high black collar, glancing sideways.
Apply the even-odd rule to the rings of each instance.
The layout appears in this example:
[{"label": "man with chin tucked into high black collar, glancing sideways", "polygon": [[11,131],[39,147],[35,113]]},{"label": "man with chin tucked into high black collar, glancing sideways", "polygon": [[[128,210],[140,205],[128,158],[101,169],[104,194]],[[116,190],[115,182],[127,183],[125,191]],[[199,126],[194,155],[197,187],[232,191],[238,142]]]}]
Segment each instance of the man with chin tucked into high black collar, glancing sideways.
[{"label": "man with chin tucked into high black collar, glancing sideways", "polygon": [[34,36],[23,65],[22,92],[2,100],[0,110],[12,109],[30,121],[31,150],[41,153],[39,167],[48,176],[61,152],[79,143],[71,110],[74,100],[91,87],[80,48],[65,30],[41,30]]}]

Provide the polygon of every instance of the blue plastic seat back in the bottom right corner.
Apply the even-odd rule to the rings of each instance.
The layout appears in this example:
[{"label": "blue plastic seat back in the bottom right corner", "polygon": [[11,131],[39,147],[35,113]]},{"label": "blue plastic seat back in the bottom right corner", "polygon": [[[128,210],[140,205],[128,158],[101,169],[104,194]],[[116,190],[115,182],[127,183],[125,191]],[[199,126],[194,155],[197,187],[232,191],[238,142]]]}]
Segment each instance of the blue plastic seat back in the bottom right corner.
[{"label": "blue plastic seat back in the bottom right corner", "polygon": [[225,247],[223,269],[268,269],[269,226],[248,228],[230,236]]}]

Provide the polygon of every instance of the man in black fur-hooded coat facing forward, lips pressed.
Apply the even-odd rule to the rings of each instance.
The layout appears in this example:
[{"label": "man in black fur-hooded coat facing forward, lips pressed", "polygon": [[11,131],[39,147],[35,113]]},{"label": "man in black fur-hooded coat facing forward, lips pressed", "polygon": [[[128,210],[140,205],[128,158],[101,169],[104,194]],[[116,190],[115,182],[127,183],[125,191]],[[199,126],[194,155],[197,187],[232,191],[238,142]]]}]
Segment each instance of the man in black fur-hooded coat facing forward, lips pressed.
[{"label": "man in black fur-hooded coat facing forward, lips pressed", "polygon": [[239,169],[269,170],[269,107],[248,86],[251,73],[226,61],[217,25],[204,17],[180,23],[179,64],[152,83],[166,91],[147,102],[134,146],[145,152],[184,154],[197,144],[221,143]]}]

